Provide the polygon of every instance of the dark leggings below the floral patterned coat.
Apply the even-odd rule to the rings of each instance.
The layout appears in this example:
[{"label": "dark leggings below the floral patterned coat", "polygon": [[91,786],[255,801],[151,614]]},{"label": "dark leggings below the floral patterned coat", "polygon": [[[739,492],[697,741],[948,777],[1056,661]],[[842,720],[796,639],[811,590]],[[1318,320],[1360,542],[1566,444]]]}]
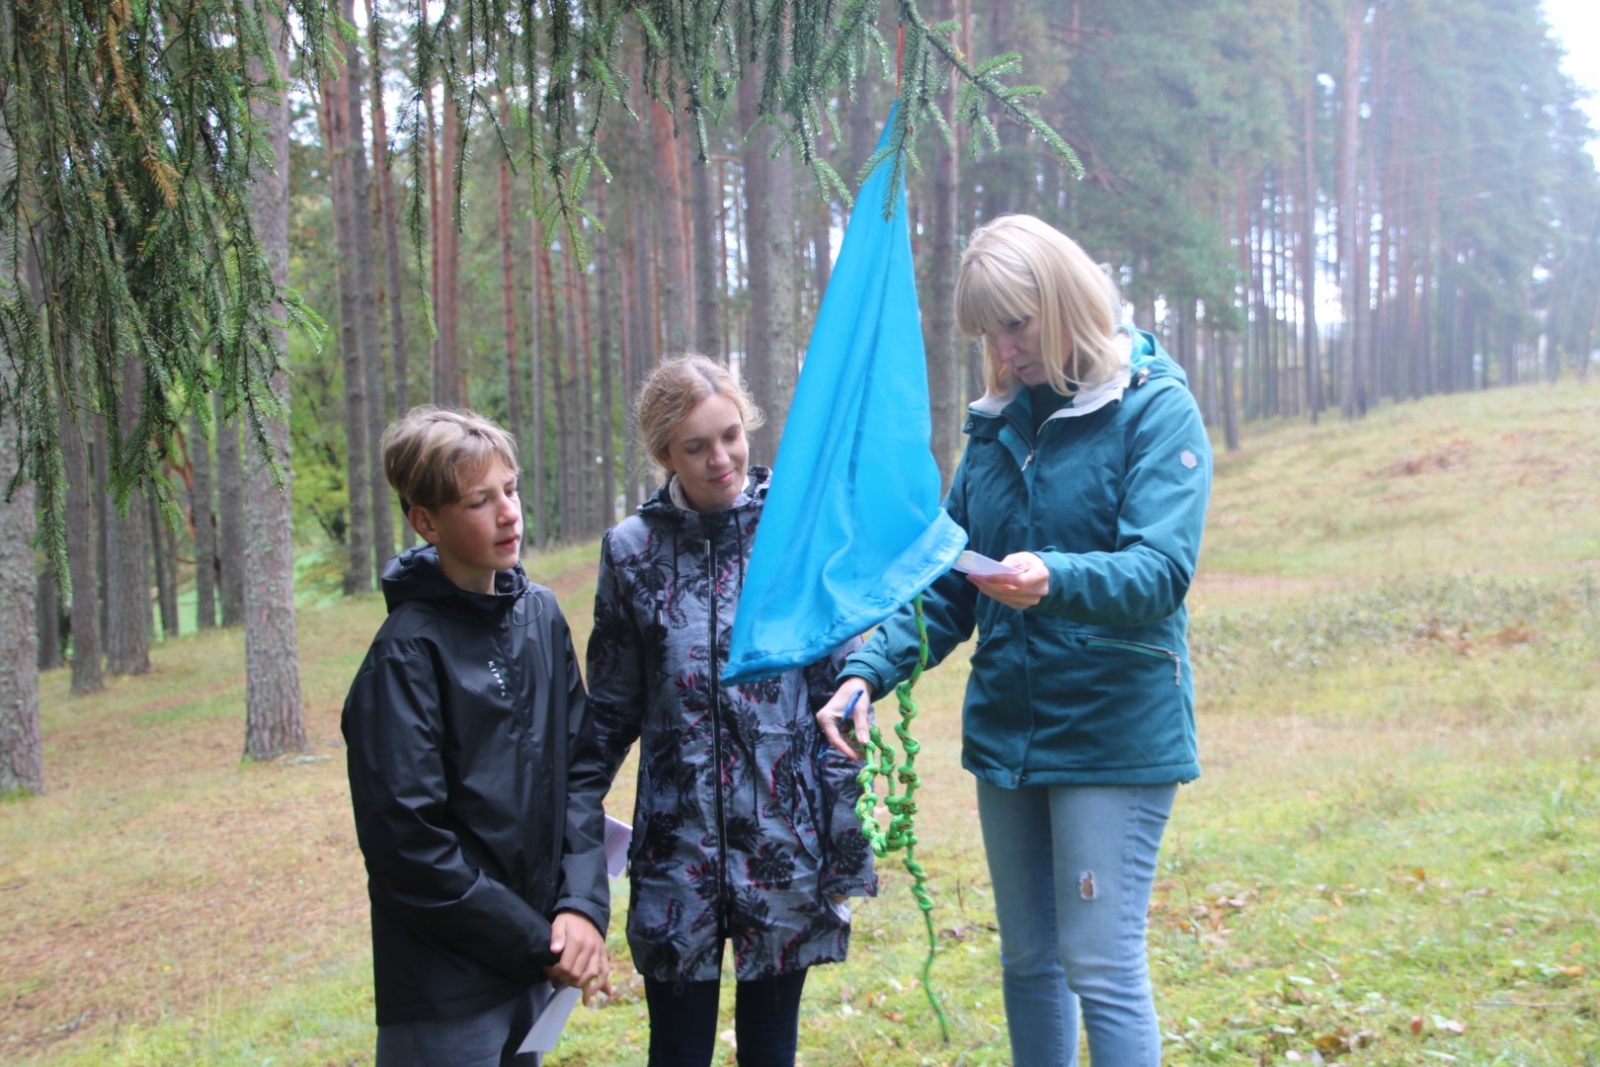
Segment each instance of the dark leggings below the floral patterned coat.
[{"label": "dark leggings below the floral patterned coat", "polygon": [[[706,1067],[717,1051],[717,995],[722,982],[658,982],[645,979],[650,1005],[650,1067]],[[739,1067],[794,1067],[800,1037],[800,990],[805,969],[739,982],[734,987],[733,1032]]]}]

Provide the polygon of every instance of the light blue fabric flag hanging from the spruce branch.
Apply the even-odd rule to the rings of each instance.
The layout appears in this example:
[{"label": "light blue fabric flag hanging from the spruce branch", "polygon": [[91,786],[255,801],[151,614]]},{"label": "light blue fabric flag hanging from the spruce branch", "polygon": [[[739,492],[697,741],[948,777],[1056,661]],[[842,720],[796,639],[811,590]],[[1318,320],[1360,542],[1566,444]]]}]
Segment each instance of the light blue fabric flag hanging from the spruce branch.
[{"label": "light blue fabric flag hanging from the spruce branch", "polygon": [[904,181],[883,218],[891,171],[885,157],[856,195],[811,331],[723,685],[821,659],[910,603],[966,544],[939,506]]}]

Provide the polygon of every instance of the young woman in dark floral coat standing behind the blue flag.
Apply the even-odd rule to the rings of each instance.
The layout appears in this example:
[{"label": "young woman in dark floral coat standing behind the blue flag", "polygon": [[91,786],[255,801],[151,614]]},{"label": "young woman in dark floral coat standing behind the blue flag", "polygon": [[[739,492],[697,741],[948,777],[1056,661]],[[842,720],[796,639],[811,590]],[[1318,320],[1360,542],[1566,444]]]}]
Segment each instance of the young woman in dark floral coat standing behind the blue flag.
[{"label": "young woman in dark floral coat standing behind the blue flag", "polygon": [[704,1067],[723,947],[741,1067],[792,1067],[806,969],[843,960],[848,897],[875,889],[851,760],[816,710],[845,654],[723,688],[728,635],[766,499],[760,413],[728,368],[667,360],[638,397],[666,485],[605,536],[589,701],[614,776],[637,741],[627,941],[645,977],[651,1067]]}]

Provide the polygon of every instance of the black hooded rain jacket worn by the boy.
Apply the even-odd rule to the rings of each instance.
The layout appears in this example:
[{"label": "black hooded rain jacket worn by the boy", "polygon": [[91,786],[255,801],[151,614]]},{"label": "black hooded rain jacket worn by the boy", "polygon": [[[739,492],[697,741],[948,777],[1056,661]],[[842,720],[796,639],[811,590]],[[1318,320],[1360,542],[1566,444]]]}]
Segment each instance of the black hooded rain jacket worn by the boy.
[{"label": "black hooded rain jacket worn by the boy", "polygon": [[390,560],[344,702],[379,1025],[502,1005],[544,981],[557,912],[610,918],[608,776],[566,619],[520,566],[494,585],[454,585],[432,545]]}]

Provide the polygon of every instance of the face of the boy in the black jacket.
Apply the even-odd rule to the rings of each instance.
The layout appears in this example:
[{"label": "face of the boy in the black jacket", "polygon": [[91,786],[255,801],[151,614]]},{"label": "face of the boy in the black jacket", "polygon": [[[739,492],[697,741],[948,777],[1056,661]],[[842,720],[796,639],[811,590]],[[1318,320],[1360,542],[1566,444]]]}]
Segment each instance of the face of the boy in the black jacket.
[{"label": "face of the boy in the black jacket", "polygon": [[515,566],[522,549],[517,475],[499,456],[462,486],[461,499],[406,515],[418,536],[438,549],[438,569],[470,592],[494,592],[494,573]]}]

